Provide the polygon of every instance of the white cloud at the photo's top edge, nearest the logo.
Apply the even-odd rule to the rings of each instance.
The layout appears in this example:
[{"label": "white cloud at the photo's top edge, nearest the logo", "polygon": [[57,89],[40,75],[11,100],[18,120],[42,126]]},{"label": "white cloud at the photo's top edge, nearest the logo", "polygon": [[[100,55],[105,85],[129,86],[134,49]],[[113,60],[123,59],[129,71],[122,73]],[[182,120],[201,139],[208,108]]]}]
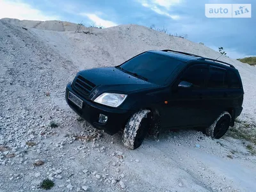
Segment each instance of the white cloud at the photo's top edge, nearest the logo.
[{"label": "white cloud at the photo's top edge, nearest the logo", "polygon": [[170,8],[173,4],[179,4],[180,0],[140,0],[142,6],[150,8],[159,15],[170,17],[174,20],[180,19],[179,15],[170,14]]}]

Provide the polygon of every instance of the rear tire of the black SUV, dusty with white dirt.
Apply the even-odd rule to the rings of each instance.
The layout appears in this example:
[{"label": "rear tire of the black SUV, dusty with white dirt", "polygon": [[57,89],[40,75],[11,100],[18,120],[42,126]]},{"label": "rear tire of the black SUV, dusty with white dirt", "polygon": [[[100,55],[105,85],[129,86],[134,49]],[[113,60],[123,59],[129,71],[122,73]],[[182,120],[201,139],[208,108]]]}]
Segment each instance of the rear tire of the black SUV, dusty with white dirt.
[{"label": "rear tire of the black SUV, dusty with white dirt", "polygon": [[228,131],[231,123],[231,115],[224,111],[214,121],[214,123],[205,129],[205,133],[214,139],[220,139]]}]

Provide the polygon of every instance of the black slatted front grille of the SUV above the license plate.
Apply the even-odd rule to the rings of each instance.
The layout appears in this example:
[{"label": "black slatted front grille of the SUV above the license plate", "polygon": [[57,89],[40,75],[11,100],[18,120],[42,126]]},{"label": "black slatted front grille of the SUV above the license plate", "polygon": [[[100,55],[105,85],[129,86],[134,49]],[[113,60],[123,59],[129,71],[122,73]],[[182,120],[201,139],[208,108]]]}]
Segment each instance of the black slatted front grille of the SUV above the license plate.
[{"label": "black slatted front grille of the SUV above the license plate", "polygon": [[84,79],[82,76],[78,76],[74,83],[74,90],[81,95],[88,95],[88,93],[92,92],[93,88],[95,88],[95,84]]}]

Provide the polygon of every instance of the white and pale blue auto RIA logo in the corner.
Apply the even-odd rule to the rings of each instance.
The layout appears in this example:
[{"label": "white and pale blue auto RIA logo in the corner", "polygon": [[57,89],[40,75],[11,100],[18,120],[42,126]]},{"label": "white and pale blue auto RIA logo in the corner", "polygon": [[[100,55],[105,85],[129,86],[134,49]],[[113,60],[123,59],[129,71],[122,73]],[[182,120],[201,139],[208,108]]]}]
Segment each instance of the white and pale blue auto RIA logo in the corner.
[{"label": "white and pale blue auto RIA logo in the corner", "polygon": [[205,4],[208,18],[252,18],[252,4]]}]

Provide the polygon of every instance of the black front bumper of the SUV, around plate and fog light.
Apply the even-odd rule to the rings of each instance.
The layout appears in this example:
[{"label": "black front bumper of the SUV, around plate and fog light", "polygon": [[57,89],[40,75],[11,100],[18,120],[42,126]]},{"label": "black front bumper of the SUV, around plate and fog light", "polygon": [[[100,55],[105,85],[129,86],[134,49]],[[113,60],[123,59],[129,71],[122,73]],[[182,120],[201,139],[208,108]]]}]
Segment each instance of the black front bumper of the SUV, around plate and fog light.
[{"label": "black front bumper of the SUV, around plate and fog light", "polygon": [[[68,99],[68,92],[74,93],[77,97],[83,100],[82,109]],[[132,113],[134,113],[134,111],[110,108],[108,106],[103,106],[101,104],[92,102],[92,100],[86,100],[81,97],[81,95],[76,93],[76,91],[72,90],[71,83],[67,84],[65,98],[68,106],[70,106],[70,108],[72,108],[77,113],[77,115],[81,116],[96,129],[103,129],[110,135],[113,135],[121,129],[124,129],[127,120],[132,115]],[[99,123],[100,114],[108,116],[108,122],[106,122],[106,124]]]}]

